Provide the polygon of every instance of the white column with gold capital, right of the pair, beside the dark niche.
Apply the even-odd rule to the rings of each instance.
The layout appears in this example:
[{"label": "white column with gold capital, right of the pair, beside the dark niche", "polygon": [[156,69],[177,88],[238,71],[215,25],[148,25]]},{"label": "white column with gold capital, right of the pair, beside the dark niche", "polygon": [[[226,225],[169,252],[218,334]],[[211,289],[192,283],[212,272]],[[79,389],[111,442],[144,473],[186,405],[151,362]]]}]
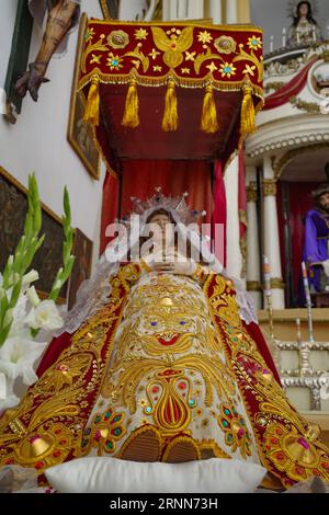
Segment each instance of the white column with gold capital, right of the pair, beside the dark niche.
[{"label": "white column with gold capital, right of the pair, beside the dark niche", "polygon": [[272,169],[271,158],[263,161],[263,234],[264,254],[270,261],[272,302],[274,309],[284,308],[284,283],[282,281],[277,206],[276,180]]}]

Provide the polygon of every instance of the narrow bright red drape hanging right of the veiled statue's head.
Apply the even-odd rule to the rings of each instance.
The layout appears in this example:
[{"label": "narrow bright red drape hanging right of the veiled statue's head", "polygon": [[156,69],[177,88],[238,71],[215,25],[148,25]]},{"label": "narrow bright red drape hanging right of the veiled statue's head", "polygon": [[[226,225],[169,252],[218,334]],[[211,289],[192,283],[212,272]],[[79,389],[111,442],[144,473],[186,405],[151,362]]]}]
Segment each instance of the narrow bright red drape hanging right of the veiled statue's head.
[{"label": "narrow bright red drape hanging right of the veiled statue's head", "polygon": [[[223,228],[223,231],[217,228]],[[222,238],[222,242],[217,247],[217,238]],[[215,238],[215,254],[216,258],[226,266],[226,192],[223,176],[223,168],[220,161],[215,163],[215,184],[214,184],[214,213],[213,213],[213,237]]]}]

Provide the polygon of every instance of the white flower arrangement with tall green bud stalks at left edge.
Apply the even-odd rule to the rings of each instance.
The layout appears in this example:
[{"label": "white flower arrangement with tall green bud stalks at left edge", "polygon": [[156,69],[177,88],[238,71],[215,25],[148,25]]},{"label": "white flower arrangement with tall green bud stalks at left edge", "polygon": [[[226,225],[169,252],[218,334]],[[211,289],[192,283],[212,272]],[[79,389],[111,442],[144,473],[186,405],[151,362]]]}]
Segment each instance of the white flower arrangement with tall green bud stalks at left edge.
[{"label": "white flower arrangement with tall green bud stalks at left edge", "polygon": [[[19,378],[26,386],[37,380],[34,365],[45,351],[50,332],[60,329],[64,323],[55,301],[70,276],[75,262],[71,254],[73,230],[70,225],[70,204],[65,187],[64,265],[57,272],[48,298],[41,300],[32,285],[38,279],[38,273],[35,270],[29,271],[44,241],[44,236],[38,236],[42,208],[34,174],[29,178],[27,206],[24,233],[14,254],[9,256],[3,273],[0,273],[0,416],[4,410],[14,408],[20,402],[14,392]],[[48,332],[45,342],[36,341],[41,330]]]}]

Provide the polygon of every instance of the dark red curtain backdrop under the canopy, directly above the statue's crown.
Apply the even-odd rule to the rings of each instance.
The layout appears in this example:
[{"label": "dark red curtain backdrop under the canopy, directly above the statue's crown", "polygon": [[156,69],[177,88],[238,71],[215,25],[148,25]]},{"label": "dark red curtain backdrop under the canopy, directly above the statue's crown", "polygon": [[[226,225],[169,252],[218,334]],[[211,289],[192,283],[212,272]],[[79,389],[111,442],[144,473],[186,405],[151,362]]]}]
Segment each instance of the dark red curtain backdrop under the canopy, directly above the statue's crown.
[{"label": "dark red curtain backdrop under the canopy, directly above the statue's crown", "polygon": [[149,198],[155,187],[161,186],[164,195],[181,195],[189,192],[188,205],[197,210],[205,209],[204,222],[211,222],[212,163],[207,161],[123,161],[121,216],[132,210],[132,196]]}]

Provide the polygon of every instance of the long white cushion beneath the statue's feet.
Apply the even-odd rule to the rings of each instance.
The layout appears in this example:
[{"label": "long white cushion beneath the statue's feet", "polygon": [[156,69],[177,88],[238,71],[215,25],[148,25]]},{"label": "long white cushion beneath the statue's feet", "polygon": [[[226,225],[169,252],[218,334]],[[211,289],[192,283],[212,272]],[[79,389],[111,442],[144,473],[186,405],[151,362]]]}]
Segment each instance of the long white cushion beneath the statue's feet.
[{"label": "long white cushion beneath the statue's feet", "polygon": [[266,470],[257,464],[211,458],[184,464],[79,458],[45,471],[63,493],[240,493],[253,492]]}]

